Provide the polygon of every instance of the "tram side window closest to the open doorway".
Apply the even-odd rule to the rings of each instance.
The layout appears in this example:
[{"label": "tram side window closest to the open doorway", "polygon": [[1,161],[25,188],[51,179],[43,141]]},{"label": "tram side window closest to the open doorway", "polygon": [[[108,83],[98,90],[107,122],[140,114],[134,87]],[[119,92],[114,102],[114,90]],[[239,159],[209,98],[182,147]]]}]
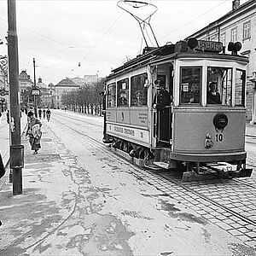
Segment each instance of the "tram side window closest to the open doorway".
[{"label": "tram side window closest to the open doorway", "polygon": [[143,73],[131,77],[131,106],[132,107],[147,107],[148,88],[144,87],[148,74]]}]

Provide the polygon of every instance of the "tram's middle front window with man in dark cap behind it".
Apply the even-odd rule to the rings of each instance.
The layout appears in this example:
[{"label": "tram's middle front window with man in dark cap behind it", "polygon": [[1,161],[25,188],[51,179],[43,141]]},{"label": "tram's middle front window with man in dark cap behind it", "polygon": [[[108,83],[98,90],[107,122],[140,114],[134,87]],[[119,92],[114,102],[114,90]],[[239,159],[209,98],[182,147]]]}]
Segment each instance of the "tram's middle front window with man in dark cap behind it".
[{"label": "tram's middle front window with man in dark cap behind it", "polygon": [[231,105],[232,68],[207,67],[207,104]]}]

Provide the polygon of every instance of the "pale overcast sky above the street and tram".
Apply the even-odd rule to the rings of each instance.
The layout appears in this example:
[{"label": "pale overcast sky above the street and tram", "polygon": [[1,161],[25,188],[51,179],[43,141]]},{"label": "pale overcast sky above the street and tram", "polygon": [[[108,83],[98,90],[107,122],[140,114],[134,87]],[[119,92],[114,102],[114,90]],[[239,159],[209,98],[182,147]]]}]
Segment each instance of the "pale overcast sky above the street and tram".
[{"label": "pale overcast sky above the street and tram", "polygon": [[[125,60],[141,54],[145,44],[139,23],[120,9],[118,2],[16,0],[19,73],[26,70],[33,80],[35,58],[36,79],[45,84],[58,84],[66,77],[105,77]],[[160,46],[188,37],[232,9],[232,0],[147,2],[156,8],[136,9],[137,15],[145,17],[156,10],[150,25]],[[125,9],[130,7],[125,5]],[[7,35],[7,0],[0,0],[0,39],[4,42],[0,55],[7,54]]]}]

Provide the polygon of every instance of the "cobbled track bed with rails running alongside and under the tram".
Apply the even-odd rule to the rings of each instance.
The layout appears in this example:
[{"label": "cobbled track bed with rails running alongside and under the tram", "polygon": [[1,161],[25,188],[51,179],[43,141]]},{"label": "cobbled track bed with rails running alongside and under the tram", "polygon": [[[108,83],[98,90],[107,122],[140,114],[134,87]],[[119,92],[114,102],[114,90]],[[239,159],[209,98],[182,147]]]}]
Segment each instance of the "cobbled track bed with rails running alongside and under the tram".
[{"label": "cobbled track bed with rails running alongside and under the tram", "polygon": [[[99,146],[98,149],[102,152],[105,152],[112,156],[117,155],[114,154],[113,150],[111,150],[110,148],[104,147],[102,145],[102,142],[100,142],[95,137],[91,137],[90,135],[85,134],[84,131],[77,131],[77,129],[75,129],[72,125],[68,125],[66,122],[63,122],[63,119],[53,119],[55,119],[55,121],[59,124],[65,125],[68,129],[75,131],[79,134],[79,136],[84,137],[84,139],[88,143],[93,143],[94,145]],[[195,212],[201,214],[201,216],[203,218],[206,218],[207,221],[212,222],[213,224],[217,224],[219,227],[230,232],[231,235],[237,236],[238,238],[242,236],[244,241],[248,243],[250,241],[253,241],[254,238],[248,234],[251,234],[253,230],[256,229],[256,219],[250,218],[245,215],[245,212],[253,211],[250,205],[230,208],[222,204],[220,201],[212,199],[211,197],[213,195],[205,195],[205,193],[202,192],[203,189],[201,189],[201,186],[208,186],[209,183],[220,184],[221,186],[223,186],[223,189],[225,189],[226,187],[230,189],[230,187],[236,184],[236,186],[238,185],[244,187],[241,188],[241,192],[236,191],[236,194],[238,193],[240,194],[239,196],[243,196],[242,193],[244,192],[242,191],[250,190],[250,196],[253,200],[253,198],[256,198],[256,187],[253,184],[255,183],[255,179],[253,179],[253,177],[249,178],[253,183],[247,183],[247,179],[238,180],[236,178],[230,180],[216,179],[214,181],[182,183],[180,178],[181,172],[168,172],[166,170],[154,172],[152,170],[132,164],[131,161],[125,159],[122,155],[118,154],[118,157],[126,160],[131,165],[131,173],[134,176],[154,185],[154,187],[156,189],[159,189],[162,193],[164,193],[164,195],[169,195],[170,197],[177,199],[177,201],[181,201],[181,203],[191,209],[195,208]],[[236,188],[231,190],[235,191]],[[214,191],[214,189],[212,190],[211,188],[209,189],[209,191],[210,194],[216,192]],[[230,196],[230,198],[232,195],[232,191],[230,192],[230,195],[227,195],[228,197]],[[234,206],[235,205],[236,204],[234,204]],[[199,208],[199,210],[196,208]],[[224,221],[229,222],[230,226],[229,224],[225,224]],[[238,229],[240,229],[240,231],[236,234],[234,233],[235,228],[232,226],[232,224],[234,224],[234,226],[238,226]]]}]

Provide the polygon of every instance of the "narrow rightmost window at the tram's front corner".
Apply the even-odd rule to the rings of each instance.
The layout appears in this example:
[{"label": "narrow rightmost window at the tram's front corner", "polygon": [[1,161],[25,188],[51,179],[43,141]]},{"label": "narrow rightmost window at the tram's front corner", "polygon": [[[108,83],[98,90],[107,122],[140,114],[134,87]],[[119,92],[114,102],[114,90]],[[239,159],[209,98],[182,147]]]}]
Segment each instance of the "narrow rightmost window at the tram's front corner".
[{"label": "narrow rightmost window at the tram's front corner", "polygon": [[246,72],[236,69],[235,106],[244,107]]}]

